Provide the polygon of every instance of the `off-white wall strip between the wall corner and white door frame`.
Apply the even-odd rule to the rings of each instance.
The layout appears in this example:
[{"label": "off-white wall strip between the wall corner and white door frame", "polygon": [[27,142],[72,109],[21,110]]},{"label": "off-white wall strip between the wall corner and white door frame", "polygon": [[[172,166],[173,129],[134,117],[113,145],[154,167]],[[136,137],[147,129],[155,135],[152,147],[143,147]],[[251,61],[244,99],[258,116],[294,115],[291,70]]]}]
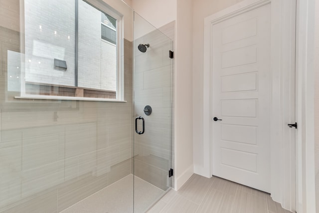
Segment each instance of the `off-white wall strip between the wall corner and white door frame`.
[{"label": "off-white wall strip between the wall corner and white door frame", "polygon": [[194,167],[204,167],[203,58],[204,18],[241,0],[196,0],[193,4],[193,149]]}]

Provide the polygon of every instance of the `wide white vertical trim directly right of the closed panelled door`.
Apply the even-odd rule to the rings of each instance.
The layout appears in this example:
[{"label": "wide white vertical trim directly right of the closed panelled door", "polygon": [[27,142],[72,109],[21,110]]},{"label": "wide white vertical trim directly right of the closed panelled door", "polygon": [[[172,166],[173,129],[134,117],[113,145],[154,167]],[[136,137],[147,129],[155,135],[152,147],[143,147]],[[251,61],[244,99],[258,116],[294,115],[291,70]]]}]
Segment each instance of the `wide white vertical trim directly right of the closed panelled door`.
[{"label": "wide white vertical trim directly right of the closed panelled door", "polygon": [[295,212],[295,140],[299,129],[287,128],[287,124],[296,121],[296,0],[272,0],[271,22],[271,197]]}]

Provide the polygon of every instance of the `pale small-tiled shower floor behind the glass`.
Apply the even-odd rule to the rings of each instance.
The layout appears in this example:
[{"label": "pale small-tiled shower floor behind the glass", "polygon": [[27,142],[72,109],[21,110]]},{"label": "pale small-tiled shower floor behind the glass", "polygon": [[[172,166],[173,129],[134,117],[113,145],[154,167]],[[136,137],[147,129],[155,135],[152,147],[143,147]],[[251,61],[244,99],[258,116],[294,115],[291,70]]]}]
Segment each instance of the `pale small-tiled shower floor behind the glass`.
[{"label": "pale small-tiled shower floor behind the glass", "polygon": [[[133,175],[87,197],[60,213],[133,213]],[[165,192],[135,177],[135,213],[144,213]]]}]

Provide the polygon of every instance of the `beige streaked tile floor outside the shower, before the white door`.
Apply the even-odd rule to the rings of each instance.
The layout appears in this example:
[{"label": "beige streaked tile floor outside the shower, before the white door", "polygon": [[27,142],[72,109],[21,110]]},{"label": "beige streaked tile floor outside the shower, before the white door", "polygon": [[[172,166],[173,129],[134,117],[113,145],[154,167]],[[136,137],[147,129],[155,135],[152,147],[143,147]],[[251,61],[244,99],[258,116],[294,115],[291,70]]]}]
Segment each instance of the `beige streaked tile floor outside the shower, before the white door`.
[{"label": "beige streaked tile floor outside the shower, before the white door", "polygon": [[221,178],[192,175],[170,190],[148,213],[290,213],[270,195]]}]

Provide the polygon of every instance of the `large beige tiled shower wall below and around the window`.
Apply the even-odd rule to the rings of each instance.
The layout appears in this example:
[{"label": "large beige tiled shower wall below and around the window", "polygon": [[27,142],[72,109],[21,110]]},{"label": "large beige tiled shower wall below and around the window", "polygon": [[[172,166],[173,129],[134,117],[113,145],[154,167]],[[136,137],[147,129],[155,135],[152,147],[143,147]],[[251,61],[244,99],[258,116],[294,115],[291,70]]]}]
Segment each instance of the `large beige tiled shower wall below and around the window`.
[{"label": "large beige tiled shower wall below and around the window", "polygon": [[7,51],[20,49],[18,7],[5,2],[0,213],[56,213],[131,173],[132,44],[124,41],[126,103],[14,99],[19,93],[7,91]]}]

